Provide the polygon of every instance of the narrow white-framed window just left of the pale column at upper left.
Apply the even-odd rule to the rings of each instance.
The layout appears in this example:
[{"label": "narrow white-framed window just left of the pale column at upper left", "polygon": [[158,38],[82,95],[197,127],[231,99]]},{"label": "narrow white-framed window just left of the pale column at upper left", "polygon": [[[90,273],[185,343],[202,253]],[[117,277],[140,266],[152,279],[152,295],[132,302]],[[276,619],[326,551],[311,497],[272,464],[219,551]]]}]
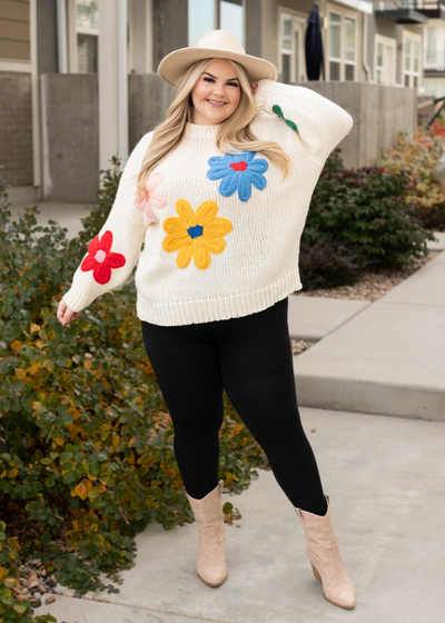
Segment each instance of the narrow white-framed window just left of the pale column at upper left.
[{"label": "narrow white-framed window just left of the pale column at upper left", "polygon": [[97,0],[76,0],[77,70],[98,71],[99,11]]}]

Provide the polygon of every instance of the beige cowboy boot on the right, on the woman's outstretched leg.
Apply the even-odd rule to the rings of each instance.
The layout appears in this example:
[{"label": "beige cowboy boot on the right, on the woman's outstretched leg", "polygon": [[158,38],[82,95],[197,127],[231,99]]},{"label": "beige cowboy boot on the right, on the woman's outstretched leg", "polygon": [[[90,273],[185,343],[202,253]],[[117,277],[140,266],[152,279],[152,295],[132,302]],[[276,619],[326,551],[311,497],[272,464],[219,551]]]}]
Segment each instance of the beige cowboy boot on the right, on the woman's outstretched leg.
[{"label": "beige cowboy boot on the right, on the woman's outstretched leg", "polygon": [[295,508],[306,534],[306,554],[313,573],[323,584],[325,600],[339,607],[355,607],[353,584],[343,566],[337,536],[330,516],[329,496],[326,515]]}]

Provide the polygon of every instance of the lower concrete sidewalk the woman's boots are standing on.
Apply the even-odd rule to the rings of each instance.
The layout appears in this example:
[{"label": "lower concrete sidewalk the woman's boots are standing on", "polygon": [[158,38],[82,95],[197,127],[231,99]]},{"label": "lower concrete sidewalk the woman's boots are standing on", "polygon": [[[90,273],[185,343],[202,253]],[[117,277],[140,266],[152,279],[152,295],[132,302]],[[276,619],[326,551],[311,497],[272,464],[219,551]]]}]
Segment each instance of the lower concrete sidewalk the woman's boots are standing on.
[{"label": "lower concrete sidewalk the woman's boots are standing on", "polygon": [[[67,623],[442,623],[445,612],[445,424],[301,408],[329,495],[355,610],[329,604],[312,574],[303,527],[271,472],[239,496],[226,526],[229,577],[206,586],[195,570],[196,523],[136,537],[120,593],[57,596],[36,610]],[[97,600],[107,600],[108,603]]]}]

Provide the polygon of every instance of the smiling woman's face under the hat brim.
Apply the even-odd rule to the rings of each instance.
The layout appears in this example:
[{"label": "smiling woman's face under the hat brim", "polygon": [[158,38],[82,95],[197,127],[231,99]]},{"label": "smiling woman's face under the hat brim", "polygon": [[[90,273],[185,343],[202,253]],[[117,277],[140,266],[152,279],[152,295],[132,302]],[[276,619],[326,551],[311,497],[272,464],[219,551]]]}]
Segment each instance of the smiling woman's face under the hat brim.
[{"label": "smiling woman's face under the hat brim", "polygon": [[240,97],[241,87],[233,66],[226,59],[215,59],[191,91],[191,122],[221,123],[234,112]]}]

